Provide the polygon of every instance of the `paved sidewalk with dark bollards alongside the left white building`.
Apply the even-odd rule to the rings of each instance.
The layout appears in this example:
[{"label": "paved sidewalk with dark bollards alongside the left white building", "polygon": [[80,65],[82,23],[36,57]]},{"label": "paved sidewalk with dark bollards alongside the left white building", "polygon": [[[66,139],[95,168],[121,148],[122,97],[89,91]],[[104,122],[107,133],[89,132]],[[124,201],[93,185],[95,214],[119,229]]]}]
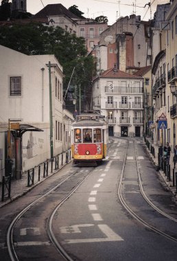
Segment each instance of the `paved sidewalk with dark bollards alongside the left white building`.
[{"label": "paved sidewalk with dark bollards alongside the left white building", "polygon": [[[29,190],[32,190],[32,188],[34,188],[36,185],[40,184],[45,179],[51,177],[51,175],[61,170],[70,161],[71,161],[71,154],[70,153],[67,154],[67,152],[63,152],[62,155],[58,155],[58,157],[55,158],[55,161],[53,161],[53,163],[52,161],[46,161],[44,163],[41,163],[39,166],[36,166],[34,168],[34,184],[32,184],[33,183],[32,170],[30,171],[31,179],[29,179],[28,177],[28,172],[24,172],[22,174],[21,179],[19,180],[12,179],[10,198],[8,198],[8,195],[5,196],[4,201],[1,201],[0,198],[0,208],[14,201],[16,198],[23,196],[24,194],[29,192]],[[40,170],[40,176],[39,176],[39,170]],[[40,179],[40,181],[38,179]],[[2,183],[0,184],[0,193],[2,194]],[[5,190],[5,194],[8,194],[7,189]]]}]

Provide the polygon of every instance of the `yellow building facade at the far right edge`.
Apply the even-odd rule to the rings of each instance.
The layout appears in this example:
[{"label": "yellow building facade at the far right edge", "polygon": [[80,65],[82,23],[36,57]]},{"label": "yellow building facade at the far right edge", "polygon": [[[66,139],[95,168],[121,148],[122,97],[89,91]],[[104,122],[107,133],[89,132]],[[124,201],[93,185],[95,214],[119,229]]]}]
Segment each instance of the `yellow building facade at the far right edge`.
[{"label": "yellow building facade at the far right edge", "polygon": [[167,63],[167,139],[174,148],[177,144],[177,0],[171,1],[166,14]]}]

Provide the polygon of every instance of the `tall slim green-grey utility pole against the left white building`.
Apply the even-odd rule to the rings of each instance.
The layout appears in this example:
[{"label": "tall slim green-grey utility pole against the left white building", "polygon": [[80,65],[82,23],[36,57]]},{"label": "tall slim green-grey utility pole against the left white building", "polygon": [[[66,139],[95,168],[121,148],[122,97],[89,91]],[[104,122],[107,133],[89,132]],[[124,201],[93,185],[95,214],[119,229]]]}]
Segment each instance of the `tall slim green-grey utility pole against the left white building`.
[{"label": "tall slim green-grey utility pole against the left white building", "polygon": [[54,158],[54,141],[53,141],[53,117],[52,117],[52,97],[51,97],[51,63],[49,62],[49,111],[50,111],[50,157]]}]

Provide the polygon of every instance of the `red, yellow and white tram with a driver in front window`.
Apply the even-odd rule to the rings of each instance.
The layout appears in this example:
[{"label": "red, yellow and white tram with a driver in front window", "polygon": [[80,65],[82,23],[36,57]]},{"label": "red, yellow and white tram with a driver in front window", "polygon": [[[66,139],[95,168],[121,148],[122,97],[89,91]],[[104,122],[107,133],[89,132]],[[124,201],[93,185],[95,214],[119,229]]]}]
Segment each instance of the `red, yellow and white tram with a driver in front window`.
[{"label": "red, yellow and white tram with a driver in front window", "polygon": [[71,128],[73,163],[99,164],[106,157],[108,124],[94,111],[77,115]]}]

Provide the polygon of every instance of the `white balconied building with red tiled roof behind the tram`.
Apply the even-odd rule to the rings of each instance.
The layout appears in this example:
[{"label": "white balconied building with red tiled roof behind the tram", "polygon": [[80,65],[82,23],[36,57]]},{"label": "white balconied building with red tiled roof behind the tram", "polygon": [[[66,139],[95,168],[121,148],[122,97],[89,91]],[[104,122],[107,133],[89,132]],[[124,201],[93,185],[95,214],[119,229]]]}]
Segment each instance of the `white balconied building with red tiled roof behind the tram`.
[{"label": "white balconied building with red tiled roof behind the tram", "polygon": [[143,78],[104,71],[93,80],[93,109],[106,116],[110,136],[143,137]]}]

